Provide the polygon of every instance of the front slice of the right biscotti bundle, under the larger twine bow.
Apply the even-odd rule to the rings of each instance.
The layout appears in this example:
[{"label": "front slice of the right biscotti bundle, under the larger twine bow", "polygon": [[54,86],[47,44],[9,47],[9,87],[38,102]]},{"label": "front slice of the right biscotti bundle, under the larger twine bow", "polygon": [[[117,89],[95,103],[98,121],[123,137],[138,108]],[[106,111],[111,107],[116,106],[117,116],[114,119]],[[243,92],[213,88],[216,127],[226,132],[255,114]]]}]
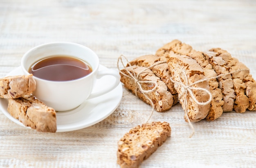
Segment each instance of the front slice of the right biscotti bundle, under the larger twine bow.
[{"label": "front slice of the right biscotti bundle, under the larger twine bow", "polygon": [[[183,83],[184,85],[192,85],[196,81],[205,79],[201,66],[194,59],[186,55],[170,54],[170,59],[167,62],[174,81]],[[186,83],[186,79],[188,83]],[[189,120],[191,122],[198,122],[204,119],[209,113],[211,104],[199,105],[190,94],[185,96],[185,94],[183,94],[185,88],[179,83],[174,83],[174,87],[179,94],[179,100],[182,108],[187,111]],[[208,81],[193,84],[191,87],[203,88],[207,91],[210,89]],[[206,103],[210,99],[209,93],[205,91],[192,89],[192,92],[195,98],[201,103]],[[187,104],[185,104],[185,101]],[[186,113],[184,119],[188,122]]]}]

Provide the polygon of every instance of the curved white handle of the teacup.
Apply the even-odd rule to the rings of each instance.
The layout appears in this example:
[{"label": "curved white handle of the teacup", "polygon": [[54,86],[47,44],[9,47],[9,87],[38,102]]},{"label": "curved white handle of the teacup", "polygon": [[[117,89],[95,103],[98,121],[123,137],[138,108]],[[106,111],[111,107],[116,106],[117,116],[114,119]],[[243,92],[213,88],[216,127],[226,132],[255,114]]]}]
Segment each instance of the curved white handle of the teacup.
[{"label": "curved white handle of the teacup", "polygon": [[111,90],[115,89],[117,87],[117,85],[119,85],[120,83],[120,75],[118,72],[114,71],[114,70],[101,70],[98,72],[98,75],[97,75],[97,79],[100,79],[102,78],[103,76],[106,76],[106,75],[111,75],[111,76],[114,76],[115,77],[115,82],[112,83],[112,85],[108,86],[107,88],[99,91],[99,92],[94,92],[94,93],[91,93],[90,96],[87,98],[87,99],[90,99],[90,98],[95,98],[95,97],[98,97],[98,96],[101,96],[103,94],[106,94],[108,92],[110,92]]}]

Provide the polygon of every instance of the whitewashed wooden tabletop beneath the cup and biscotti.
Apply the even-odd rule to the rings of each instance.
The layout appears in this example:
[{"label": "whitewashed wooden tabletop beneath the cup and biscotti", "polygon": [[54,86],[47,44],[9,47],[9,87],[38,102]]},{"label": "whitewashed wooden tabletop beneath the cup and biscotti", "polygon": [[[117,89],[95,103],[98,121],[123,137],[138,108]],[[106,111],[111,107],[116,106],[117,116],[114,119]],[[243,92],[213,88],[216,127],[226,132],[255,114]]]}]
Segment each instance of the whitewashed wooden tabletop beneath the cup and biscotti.
[{"label": "whitewashed wooden tabletop beneath the cup and biscotti", "polygon": [[[255,0],[0,0],[0,77],[47,42],[88,46],[102,65],[117,70],[121,54],[128,60],[154,54],[173,39],[196,50],[228,50],[256,79]],[[76,131],[40,133],[0,112],[0,167],[119,168],[118,140],[150,112],[126,89],[108,118]],[[150,121],[169,122],[172,135],[141,168],[256,167],[255,111],[194,123],[191,138],[183,116],[181,105],[153,113]]]}]

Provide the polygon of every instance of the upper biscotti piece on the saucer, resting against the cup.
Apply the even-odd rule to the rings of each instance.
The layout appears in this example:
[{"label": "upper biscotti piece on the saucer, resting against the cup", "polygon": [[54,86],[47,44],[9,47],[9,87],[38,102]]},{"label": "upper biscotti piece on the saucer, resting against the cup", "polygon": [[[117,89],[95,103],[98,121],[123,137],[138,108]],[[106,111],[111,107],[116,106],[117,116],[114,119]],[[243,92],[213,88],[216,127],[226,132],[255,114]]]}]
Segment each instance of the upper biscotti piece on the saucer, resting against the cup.
[{"label": "upper biscotti piece on the saucer, resting against the cup", "polygon": [[19,98],[31,94],[36,89],[36,81],[29,74],[8,76],[0,79],[1,98]]}]

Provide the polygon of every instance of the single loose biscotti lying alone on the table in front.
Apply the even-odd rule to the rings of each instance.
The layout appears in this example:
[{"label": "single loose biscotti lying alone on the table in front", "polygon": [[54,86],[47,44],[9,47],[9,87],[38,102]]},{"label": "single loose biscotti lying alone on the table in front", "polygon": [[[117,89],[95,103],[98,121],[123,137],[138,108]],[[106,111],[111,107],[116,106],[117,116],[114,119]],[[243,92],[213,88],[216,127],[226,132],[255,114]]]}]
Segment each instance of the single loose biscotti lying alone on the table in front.
[{"label": "single loose biscotti lying alone on the table in front", "polygon": [[168,122],[152,122],[134,127],[118,142],[117,164],[121,168],[138,168],[171,136]]}]

